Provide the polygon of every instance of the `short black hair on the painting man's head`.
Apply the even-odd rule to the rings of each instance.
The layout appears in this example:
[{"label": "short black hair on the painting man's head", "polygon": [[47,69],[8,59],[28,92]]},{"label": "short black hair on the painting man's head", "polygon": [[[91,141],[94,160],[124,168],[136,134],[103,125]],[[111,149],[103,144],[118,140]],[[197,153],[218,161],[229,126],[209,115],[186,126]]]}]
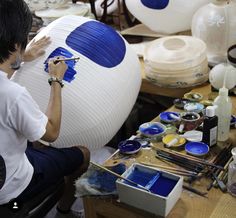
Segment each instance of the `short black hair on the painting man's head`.
[{"label": "short black hair on the painting man's head", "polygon": [[0,63],[16,51],[25,49],[32,26],[32,14],[23,0],[0,0]]}]

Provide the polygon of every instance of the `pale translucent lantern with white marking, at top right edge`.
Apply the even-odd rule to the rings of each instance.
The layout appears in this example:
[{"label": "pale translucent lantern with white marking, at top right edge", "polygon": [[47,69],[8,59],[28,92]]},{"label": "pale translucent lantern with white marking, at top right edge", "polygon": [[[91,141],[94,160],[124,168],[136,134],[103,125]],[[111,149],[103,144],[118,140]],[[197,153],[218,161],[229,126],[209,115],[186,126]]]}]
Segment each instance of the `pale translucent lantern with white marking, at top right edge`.
[{"label": "pale translucent lantern with white marking, at top right edge", "polygon": [[236,43],[236,3],[222,1],[201,7],[192,19],[192,34],[207,45],[210,65],[226,61],[227,49]]}]

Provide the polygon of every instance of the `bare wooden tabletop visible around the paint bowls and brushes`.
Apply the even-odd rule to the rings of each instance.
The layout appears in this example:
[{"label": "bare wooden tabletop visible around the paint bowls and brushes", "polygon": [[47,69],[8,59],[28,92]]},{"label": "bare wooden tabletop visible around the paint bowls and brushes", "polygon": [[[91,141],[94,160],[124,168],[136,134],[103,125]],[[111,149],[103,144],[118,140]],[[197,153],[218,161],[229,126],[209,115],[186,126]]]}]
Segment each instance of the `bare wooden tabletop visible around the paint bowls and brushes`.
[{"label": "bare wooden tabletop visible around the paint bowls and brushes", "polygon": [[[194,89],[193,91],[204,94],[208,98],[210,85]],[[233,114],[236,114],[236,97],[231,97],[233,103]],[[174,109],[174,108],[172,108]],[[171,110],[172,110],[171,109]],[[158,119],[158,118],[157,118]],[[236,146],[236,130],[231,130],[230,139]],[[162,146],[161,143],[154,143],[155,146]],[[223,144],[217,145],[223,147]],[[118,153],[117,153],[118,154]],[[153,149],[142,149],[138,154],[129,159],[116,158],[117,154],[110,157],[104,164],[114,165],[119,162],[125,162],[127,166],[134,162],[149,162],[160,164],[160,160],[155,158]],[[206,191],[211,180],[202,178],[193,184],[194,188]],[[84,198],[84,208],[86,218],[151,218],[157,217],[131,206],[117,202],[114,198]],[[207,198],[196,195],[192,192],[183,190],[182,195],[174,208],[171,210],[168,218],[235,218],[236,217],[236,198],[228,193],[222,193],[218,188],[212,188]]]}]

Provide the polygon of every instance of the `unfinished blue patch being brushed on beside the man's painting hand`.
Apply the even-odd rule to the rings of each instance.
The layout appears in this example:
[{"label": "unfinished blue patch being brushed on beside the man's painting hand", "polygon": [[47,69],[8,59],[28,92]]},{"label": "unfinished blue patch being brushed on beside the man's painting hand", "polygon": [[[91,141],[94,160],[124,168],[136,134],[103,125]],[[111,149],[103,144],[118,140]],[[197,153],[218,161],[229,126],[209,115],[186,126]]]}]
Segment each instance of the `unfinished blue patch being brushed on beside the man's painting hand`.
[{"label": "unfinished blue patch being brushed on beside the man's painting hand", "polygon": [[[62,47],[58,47],[56,48],[46,59],[46,61],[44,62],[45,66],[44,66],[44,70],[46,72],[48,72],[48,60],[50,58],[53,58],[55,56],[63,56],[64,58],[71,58],[73,57],[73,54],[71,52],[69,52],[68,50],[66,50],[65,48]],[[75,74],[77,73],[74,70],[75,67],[75,60],[70,60],[70,61],[65,61],[65,63],[67,64],[67,70],[64,74],[63,80],[67,81],[67,82],[71,82],[72,80],[75,79]]]}]

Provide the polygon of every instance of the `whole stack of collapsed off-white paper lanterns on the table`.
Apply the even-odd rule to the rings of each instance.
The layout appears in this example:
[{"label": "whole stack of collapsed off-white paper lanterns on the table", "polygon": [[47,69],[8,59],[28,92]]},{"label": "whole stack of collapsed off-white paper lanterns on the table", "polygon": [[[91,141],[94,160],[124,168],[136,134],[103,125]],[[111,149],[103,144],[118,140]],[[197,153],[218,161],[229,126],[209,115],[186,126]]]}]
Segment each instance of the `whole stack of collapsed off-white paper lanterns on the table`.
[{"label": "whole stack of collapsed off-white paper lanterns on the table", "polygon": [[154,40],[144,51],[146,77],[158,86],[191,87],[209,78],[205,43],[192,36]]}]

